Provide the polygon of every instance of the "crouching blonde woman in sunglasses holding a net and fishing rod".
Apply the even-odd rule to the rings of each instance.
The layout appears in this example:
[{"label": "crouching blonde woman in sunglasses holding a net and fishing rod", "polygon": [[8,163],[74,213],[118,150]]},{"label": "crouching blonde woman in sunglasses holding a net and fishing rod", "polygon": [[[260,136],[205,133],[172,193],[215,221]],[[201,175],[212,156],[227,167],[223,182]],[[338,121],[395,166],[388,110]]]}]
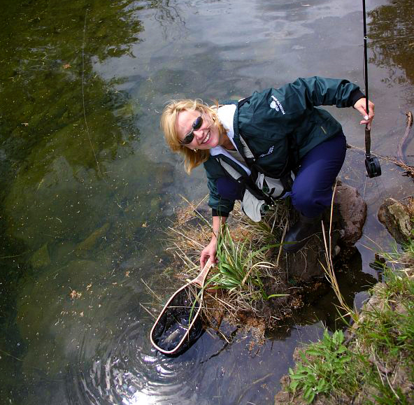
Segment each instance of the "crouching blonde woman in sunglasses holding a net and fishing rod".
[{"label": "crouching blonde woman in sunglasses holding a net and fishing rod", "polygon": [[284,249],[299,250],[331,204],[332,185],[345,159],[342,127],[317,106],[353,106],[371,126],[374,105],[348,80],[299,78],[255,92],[240,101],[208,107],[200,100],[172,101],[161,126],[173,152],[184,155],[185,170],[204,164],[213,211],[213,235],[201,252],[201,267],[215,262],[217,234],[234,201],[260,220],[272,199],[290,195],[299,221],[285,236]]}]

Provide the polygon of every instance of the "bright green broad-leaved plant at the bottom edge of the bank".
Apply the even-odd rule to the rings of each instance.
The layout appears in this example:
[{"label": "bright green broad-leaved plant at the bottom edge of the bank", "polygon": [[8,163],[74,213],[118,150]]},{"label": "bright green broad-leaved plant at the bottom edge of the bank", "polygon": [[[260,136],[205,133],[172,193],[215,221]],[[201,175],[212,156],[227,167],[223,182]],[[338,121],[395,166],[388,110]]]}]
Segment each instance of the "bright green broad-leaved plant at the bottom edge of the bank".
[{"label": "bright green broad-leaved plant at the bottom edge of the bank", "polygon": [[345,363],[352,359],[352,353],[343,341],[342,331],[336,331],[332,336],[325,331],[322,341],[313,343],[301,353],[302,362],[294,371],[289,369],[290,390],[302,390],[304,399],[310,404],[317,394],[327,394],[342,385],[345,374],[350,377]]}]

